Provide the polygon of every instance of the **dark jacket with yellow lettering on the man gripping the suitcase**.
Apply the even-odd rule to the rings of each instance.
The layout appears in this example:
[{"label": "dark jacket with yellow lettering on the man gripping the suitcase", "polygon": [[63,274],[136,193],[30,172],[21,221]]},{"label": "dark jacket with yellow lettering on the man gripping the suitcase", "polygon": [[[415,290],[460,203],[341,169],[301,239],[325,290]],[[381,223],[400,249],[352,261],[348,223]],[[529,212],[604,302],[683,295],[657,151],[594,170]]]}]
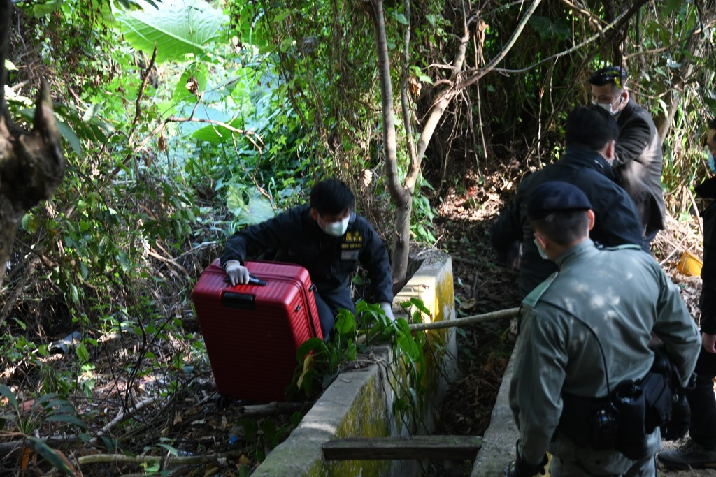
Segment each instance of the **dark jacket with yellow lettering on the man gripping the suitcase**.
[{"label": "dark jacket with yellow lettering on the man gripping the suitcase", "polygon": [[392,302],[388,252],[373,227],[355,212],[343,237],[332,237],[311,218],[309,205],[293,207],[232,235],[221,254],[221,265],[228,260],[243,263],[246,257],[258,257],[267,250],[278,251],[276,260],[306,268],[319,293],[348,287],[360,262],[368,272],[375,302]]}]

